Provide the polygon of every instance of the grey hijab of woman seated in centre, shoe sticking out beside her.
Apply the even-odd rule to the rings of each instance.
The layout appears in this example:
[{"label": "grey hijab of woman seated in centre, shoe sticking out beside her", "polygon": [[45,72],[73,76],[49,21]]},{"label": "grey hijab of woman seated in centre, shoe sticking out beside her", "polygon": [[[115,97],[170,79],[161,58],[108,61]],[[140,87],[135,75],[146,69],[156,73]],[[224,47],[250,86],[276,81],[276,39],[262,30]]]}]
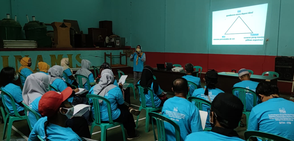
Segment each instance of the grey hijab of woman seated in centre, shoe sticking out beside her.
[{"label": "grey hijab of woman seated in centre, shoe sticking out beside her", "polygon": [[[101,72],[101,78],[98,84],[96,84],[93,88],[94,94],[104,97],[106,93],[108,93],[109,90],[115,88],[116,86],[113,85],[114,78],[113,78],[113,72],[110,69],[104,69]],[[99,100],[99,103],[102,104],[103,100]]]}]

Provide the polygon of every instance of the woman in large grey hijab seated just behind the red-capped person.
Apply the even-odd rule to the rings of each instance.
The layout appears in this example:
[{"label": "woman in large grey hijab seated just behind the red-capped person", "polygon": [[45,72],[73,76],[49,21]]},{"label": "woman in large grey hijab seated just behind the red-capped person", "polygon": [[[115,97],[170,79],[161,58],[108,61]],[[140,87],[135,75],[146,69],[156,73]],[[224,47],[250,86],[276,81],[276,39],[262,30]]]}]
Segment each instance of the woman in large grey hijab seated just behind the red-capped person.
[{"label": "woman in large grey hijab seated just behind the red-capped person", "polygon": [[[23,87],[23,103],[25,103],[25,105],[35,110],[40,117],[41,115],[39,114],[38,104],[41,99],[41,96],[49,90],[49,82],[49,75],[46,75],[41,72],[36,72],[34,74],[29,75],[26,78],[25,85]],[[35,123],[37,122],[37,119],[31,112],[29,112],[28,117],[31,127],[33,128]]]}]

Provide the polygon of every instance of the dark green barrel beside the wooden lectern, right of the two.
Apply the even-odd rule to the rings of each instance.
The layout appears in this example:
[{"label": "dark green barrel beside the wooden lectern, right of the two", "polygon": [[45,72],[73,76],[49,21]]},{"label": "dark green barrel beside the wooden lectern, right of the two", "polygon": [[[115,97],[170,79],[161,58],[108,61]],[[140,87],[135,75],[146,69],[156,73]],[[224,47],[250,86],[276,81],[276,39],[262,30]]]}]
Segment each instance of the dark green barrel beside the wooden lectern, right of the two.
[{"label": "dark green barrel beside the wooden lectern, right of the two", "polygon": [[23,26],[23,30],[25,31],[25,38],[27,40],[37,41],[38,47],[52,47],[51,37],[46,35],[47,27],[43,22],[37,20],[30,21]]}]

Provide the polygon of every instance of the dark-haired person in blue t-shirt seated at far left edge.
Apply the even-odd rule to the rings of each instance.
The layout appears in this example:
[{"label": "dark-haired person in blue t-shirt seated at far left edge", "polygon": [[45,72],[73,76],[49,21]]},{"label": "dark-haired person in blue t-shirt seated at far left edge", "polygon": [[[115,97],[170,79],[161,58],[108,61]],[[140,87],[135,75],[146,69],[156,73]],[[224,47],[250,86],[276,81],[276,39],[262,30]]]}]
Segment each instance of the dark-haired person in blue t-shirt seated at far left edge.
[{"label": "dark-haired person in blue t-shirt seated at far left edge", "polygon": [[[12,96],[19,115],[24,116],[25,113],[22,105],[22,89],[14,84],[14,81],[17,79],[18,75],[16,74],[15,69],[12,67],[5,67],[0,72],[0,84],[2,86],[1,89]],[[7,95],[4,95],[4,100],[9,111],[9,115],[15,115],[10,98]]]}]

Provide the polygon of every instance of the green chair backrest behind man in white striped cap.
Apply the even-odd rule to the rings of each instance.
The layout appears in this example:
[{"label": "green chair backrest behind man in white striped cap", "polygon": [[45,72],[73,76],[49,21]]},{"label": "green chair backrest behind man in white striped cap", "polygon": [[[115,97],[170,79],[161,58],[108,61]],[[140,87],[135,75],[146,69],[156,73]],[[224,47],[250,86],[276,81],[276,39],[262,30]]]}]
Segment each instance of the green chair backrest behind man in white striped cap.
[{"label": "green chair backrest behind man in white striped cap", "polygon": [[256,106],[257,96],[254,91],[242,87],[233,87],[232,93],[234,93],[235,91],[239,92],[239,98],[244,105],[243,112],[246,112],[246,93],[250,93],[253,95],[253,107]]}]

